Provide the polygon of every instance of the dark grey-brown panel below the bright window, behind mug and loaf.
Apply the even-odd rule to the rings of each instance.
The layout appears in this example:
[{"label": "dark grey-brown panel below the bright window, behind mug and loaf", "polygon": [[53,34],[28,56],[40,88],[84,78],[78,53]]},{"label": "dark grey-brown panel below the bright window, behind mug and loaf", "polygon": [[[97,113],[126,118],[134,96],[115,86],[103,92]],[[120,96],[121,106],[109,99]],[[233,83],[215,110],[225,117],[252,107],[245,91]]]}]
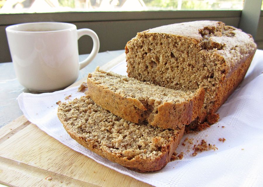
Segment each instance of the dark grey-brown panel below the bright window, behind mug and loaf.
[{"label": "dark grey-brown panel below the bright window, behind mug and loaf", "polygon": [[[245,0],[248,1],[248,0]],[[262,1],[262,0],[255,0]],[[244,7],[245,8],[245,7]],[[18,14],[0,14],[0,62],[11,61],[5,28],[9,25],[25,22],[68,22],[77,25],[77,28],[90,28],[97,32],[101,42],[100,52],[106,50],[124,49],[128,40],[136,35],[137,32],[160,26],[164,24],[180,23],[194,20],[218,20],[227,25],[239,28],[242,17],[241,10],[209,10],[209,11],[132,11],[132,12],[59,12],[59,13],[18,13]],[[124,23],[124,24],[123,24]],[[111,40],[109,37],[103,38],[105,32],[104,24],[122,27],[123,25],[132,25],[135,27],[121,28],[121,32],[115,33],[116,30],[106,30],[114,36]],[[263,11],[260,12],[257,35],[254,36],[259,42],[259,47],[263,49]],[[119,31],[119,30],[118,30]],[[88,41],[90,42],[90,41]],[[87,45],[87,42],[79,42],[79,49]],[[80,54],[91,51],[86,49],[80,50]]]}]

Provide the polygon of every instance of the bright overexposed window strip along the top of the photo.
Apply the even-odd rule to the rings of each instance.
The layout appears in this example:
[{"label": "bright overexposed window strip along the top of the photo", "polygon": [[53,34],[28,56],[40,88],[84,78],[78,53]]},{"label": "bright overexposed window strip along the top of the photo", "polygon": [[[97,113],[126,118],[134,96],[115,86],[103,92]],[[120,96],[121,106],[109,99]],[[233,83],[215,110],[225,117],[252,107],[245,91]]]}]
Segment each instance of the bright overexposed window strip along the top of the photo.
[{"label": "bright overexposed window strip along the top of the photo", "polygon": [[0,0],[0,13],[242,10],[243,0]]}]

